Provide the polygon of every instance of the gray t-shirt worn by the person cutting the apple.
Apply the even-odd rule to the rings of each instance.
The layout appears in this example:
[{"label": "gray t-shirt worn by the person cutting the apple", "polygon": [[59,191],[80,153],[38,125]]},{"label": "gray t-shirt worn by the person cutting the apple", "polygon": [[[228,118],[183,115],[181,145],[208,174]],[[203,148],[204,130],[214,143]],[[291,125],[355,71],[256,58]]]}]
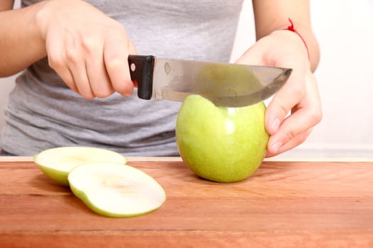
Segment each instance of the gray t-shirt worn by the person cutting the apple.
[{"label": "gray t-shirt worn by the person cutting the apple", "polygon": [[[141,55],[228,62],[243,0],[87,1],[124,25]],[[22,6],[36,0],[23,0]],[[50,147],[103,147],[126,156],[177,156],[180,103],[113,94],[85,100],[44,58],[17,79],[1,147],[33,155]]]}]

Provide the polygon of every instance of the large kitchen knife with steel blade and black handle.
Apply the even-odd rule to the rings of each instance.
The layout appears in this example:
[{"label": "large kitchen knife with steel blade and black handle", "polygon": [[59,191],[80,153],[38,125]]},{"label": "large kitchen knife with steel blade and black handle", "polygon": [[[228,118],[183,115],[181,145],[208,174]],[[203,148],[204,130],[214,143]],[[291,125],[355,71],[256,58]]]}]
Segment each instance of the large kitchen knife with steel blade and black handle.
[{"label": "large kitchen knife with steel blade and black handle", "polygon": [[198,94],[223,107],[264,101],[286,83],[292,71],[279,67],[169,60],[153,55],[129,55],[129,68],[139,98],[183,101],[190,94]]}]

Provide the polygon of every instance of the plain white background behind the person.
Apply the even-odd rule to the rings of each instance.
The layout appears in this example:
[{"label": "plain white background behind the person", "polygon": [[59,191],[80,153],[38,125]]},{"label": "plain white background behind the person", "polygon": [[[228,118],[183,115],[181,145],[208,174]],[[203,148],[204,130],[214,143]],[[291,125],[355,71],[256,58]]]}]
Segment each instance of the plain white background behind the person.
[{"label": "plain white background behind the person", "polygon": [[[280,157],[373,159],[373,1],[313,0],[311,16],[321,50],[315,76],[323,120],[303,145]],[[232,61],[252,43],[252,5],[245,1]],[[13,80],[0,79],[0,130]]]}]

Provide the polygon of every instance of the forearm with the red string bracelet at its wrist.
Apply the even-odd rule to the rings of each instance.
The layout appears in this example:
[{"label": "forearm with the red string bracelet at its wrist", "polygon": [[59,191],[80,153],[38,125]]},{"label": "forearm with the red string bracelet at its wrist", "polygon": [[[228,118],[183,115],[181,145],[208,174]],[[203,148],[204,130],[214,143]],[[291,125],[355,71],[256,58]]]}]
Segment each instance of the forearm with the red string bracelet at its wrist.
[{"label": "forearm with the red string bracelet at its wrist", "polygon": [[[259,40],[274,31],[283,30],[288,26],[291,26],[291,23],[288,21],[288,18],[291,18],[294,27],[307,44],[310,56],[310,69],[315,71],[320,59],[320,50],[310,23],[309,1],[253,0],[253,9],[256,40]],[[289,32],[289,37],[290,35],[293,35],[294,37],[297,35],[296,33],[290,34],[292,33],[291,31],[284,31]],[[297,39],[301,41],[300,37]]]}]

